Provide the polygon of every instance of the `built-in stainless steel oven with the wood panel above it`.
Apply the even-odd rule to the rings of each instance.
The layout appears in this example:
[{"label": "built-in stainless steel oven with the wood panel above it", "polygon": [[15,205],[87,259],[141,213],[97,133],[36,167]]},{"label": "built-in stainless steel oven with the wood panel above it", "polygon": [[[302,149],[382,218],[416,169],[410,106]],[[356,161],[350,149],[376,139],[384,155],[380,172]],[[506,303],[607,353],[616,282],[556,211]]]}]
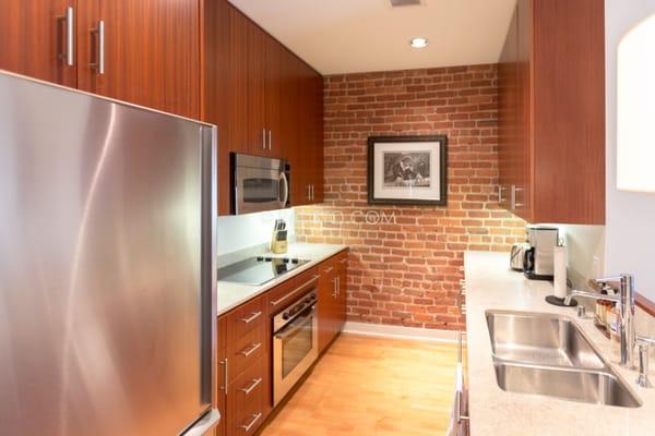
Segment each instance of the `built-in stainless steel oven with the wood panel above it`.
[{"label": "built-in stainless steel oven with the wood panel above it", "polygon": [[318,277],[313,277],[289,294],[272,302],[276,306],[291,301],[273,316],[274,405],[319,359],[317,283]]}]

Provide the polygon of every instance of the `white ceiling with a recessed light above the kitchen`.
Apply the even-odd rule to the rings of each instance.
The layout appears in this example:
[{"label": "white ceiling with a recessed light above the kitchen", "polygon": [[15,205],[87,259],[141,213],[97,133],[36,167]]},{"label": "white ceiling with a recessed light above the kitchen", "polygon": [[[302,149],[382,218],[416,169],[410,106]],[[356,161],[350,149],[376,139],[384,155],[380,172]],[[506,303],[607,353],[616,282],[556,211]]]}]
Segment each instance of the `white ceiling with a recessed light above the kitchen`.
[{"label": "white ceiling with a recessed light above the kitchen", "polygon": [[[230,0],[322,74],[497,62],[516,0]],[[429,45],[409,47],[422,36]]]}]

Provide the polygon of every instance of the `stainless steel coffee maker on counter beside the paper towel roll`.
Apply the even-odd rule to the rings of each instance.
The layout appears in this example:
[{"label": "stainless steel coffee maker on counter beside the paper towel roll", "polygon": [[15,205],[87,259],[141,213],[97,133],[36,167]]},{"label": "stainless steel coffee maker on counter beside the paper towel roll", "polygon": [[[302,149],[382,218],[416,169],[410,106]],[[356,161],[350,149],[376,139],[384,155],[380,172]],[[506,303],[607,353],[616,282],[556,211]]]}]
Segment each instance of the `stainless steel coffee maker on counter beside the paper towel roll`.
[{"label": "stainless steel coffee maker on counter beside the paper towel roll", "polygon": [[557,227],[528,226],[523,270],[528,279],[552,280],[553,252],[559,243]]}]

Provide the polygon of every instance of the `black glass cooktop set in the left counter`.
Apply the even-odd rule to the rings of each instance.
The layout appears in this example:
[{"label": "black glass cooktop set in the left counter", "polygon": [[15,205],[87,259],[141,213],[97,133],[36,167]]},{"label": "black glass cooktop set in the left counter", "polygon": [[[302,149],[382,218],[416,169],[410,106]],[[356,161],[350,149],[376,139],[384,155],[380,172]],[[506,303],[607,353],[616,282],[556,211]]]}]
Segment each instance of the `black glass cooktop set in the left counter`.
[{"label": "black glass cooktop set in the left counter", "polygon": [[308,262],[293,257],[250,257],[246,261],[218,268],[218,281],[259,286]]}]

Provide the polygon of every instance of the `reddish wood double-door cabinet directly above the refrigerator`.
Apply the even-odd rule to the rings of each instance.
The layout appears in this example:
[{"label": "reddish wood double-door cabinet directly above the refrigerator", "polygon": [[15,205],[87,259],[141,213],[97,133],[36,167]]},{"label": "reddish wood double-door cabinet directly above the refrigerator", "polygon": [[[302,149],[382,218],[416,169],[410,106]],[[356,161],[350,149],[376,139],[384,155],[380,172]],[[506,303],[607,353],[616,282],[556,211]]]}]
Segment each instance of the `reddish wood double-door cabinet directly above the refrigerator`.
[{"label": "reddish wood double-door cabinet directly above the refrigerator", "polygon": [[8,0],[0,68],[200,117],[198,0]]}]

